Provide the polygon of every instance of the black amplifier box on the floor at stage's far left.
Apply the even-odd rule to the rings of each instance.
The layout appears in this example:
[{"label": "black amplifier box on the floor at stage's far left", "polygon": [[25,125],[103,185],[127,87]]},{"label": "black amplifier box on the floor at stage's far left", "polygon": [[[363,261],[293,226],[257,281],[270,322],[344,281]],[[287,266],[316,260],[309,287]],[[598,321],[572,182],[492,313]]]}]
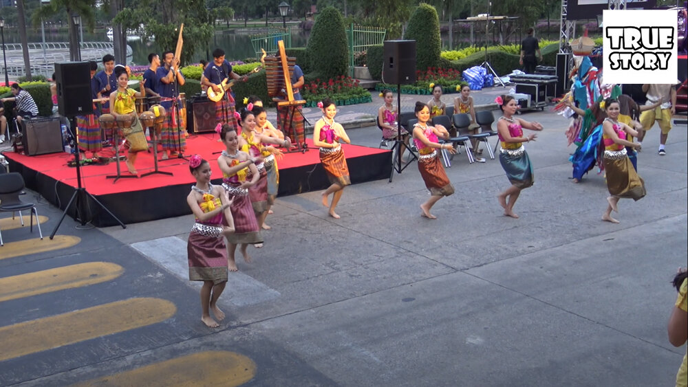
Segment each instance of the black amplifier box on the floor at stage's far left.
[{"label": "black amplifier box on the floor at stage's far left", "polygon": [[24,146],[24,152],[30,156],[64,152],[60,118],[23,120],[21,142]]}]

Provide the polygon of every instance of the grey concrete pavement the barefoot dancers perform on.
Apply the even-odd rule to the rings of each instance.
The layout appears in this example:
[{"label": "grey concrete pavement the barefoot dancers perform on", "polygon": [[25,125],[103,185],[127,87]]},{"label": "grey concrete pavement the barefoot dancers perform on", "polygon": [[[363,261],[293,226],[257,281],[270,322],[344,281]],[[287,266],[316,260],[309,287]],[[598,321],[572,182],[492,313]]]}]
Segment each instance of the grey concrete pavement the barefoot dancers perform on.
[{"label": "grey concrete pavement the barefoot dancers perform on", "polygon": [[[94,259],[125,273],[2,302],[0,327],[131,297],[168,300],[175,315],[5,360],[0,384],[121,378],[219,351],[255,364],[241,368],[248,379],[234,379],[253,386],[671,385],[685,354],[666,335],[676,298],[669,280],[687,257],[685,126],[671,131],[664,157],[656,154],[658,129],[648,133],[638,156],[648,195],[621,201],[621,224],[612,225],[600,220],[603,177],[569,179],[568,121],[549,111],[521,117],[545,131],[527,145],[536,183],[516,204],[520,219],[503,217],[495,199],[508,186],[499,162],[469,164],[463,153],[447,168],[456,193],[433,208],[435,221],[419,216],[428,194],[415,163],[392,183],[347,187],[339,220],[327,216],[320,192],[279,197],[266,246],[251,249],[254,262],[239,260],[241,272],[230,275],[220,329],[202,326],[197,287],[185,278],[191,216],[126,230],[74,230],[65,219],[59,234],[79,236],[78,245],[0,259],[2,276]],[[348,134],[354,144],[378,146],[374,126]],[[50,218],[45,232],[58,211],[36,199]],[[171,205],[184,206],[183,199]],[[3,237],[8,243],[26,234]]]}]

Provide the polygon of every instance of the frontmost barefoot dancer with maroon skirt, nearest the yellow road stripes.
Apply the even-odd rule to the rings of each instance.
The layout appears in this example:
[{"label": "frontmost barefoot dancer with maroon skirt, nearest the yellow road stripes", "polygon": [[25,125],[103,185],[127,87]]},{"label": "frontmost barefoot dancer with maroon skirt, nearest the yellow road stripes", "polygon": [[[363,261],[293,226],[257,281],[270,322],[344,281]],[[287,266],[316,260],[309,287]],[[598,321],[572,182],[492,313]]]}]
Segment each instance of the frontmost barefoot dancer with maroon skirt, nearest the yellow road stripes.
[{"label": "frontmost barefoot dancer with maroon skirt, nearest the yellow road stripes", "polygon": [[222,321],[224,313],[217,307],[217,299],[227,283],[227,247],[224,236],[234,232],[234,219],[229,207],[232,201],[221,186],[211,184],[211,166],[199,155],[189,160],[189,170],[196,178],[186,203],[196,217],[189,233],[186,251],[189,254],[189,280],[203,281],[201,288],[201,321],[217,328],[215,319]]}]

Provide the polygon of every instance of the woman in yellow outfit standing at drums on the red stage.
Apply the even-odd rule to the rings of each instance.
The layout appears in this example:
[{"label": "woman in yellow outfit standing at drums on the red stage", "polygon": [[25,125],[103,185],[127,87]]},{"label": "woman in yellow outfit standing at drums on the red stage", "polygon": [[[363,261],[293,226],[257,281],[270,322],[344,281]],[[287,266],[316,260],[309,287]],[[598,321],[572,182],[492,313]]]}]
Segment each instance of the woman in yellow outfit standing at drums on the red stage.
[{"label": "woman in yellow outfit standing at drums on the red stage", "polygon": [[[133,122],[131,124],[131,132],[136,134],[140,133],[143,135],[143,128],[141,123],[136,116],[136,109],[134,101],[136,98],[141,98],[146,96],[146,80],[140,82],[141,91],[136,91],[134,89],[128,89],[127,84],[129,82],[129,74],[124,67],[117,67],[115,69],[115,76],[117,78],[117,91],[110,94],[110,106],[112,107],[110,113],[117,118],[118,115],[127,114],[133,116]],[[134,162],[136,162],[136,155],[140,149],[131,146],[131,141],[129,142],[129,154],[127,155],[127,169],[132,175],[138,175],[136,168],[134,168]],[[145,142],[145,137],[144,137]],[[118,144],[116,144],[117,146]],[[119,162],[119,160],[118,160]]]}]

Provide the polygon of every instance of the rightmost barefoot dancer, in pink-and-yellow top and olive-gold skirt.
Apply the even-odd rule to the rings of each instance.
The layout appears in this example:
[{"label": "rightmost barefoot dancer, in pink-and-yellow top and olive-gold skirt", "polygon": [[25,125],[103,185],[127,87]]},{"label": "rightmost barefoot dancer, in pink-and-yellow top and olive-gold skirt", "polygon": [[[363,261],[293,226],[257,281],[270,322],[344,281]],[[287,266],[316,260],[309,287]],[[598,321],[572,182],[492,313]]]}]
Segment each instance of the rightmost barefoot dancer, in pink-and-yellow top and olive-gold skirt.
[{"label": "rightmost barefoot dancer, in pink-and-yellow top and olive-gold skirt", "polygon": [[619,212],[616,203],[622,197],[640,200],[645,196],[645,181],[638,176],[625,146],[640,149],[639,142],[626,140],[627,135],[637,137],[638,132],[627,124],[619,122],[619,101],[608,98],[604,102],[607,118],[602,123],[602,142],[604,144],[604,169],[607,175],[607,189],[612,195],[607,198],[608,206],[602,215],[603,221],[619,223],[612,218],[612,210]]}]

